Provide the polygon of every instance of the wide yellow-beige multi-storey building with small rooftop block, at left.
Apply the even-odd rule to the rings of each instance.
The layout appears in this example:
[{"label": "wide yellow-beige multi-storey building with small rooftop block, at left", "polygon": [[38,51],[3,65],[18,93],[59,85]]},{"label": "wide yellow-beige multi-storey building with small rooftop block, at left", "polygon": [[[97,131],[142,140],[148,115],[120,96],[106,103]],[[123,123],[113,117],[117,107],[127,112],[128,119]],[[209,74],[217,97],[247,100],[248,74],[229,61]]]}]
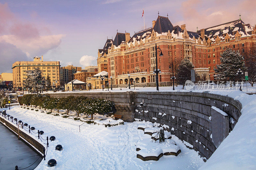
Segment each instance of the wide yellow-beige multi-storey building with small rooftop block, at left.
[{"label": "wide yellow-beige multi-storey building with small rooftop block, at left", "polygon": [[[42,76],[46,79],[49,75],[51,82],[60,85],[60,62],[59,61],[43,61],[41,57],[34,57],[34,61],[18,61],[12,64],[13,87],[22,87],[23,81],[26,80],[26,70],[33,70],[39,67],[42,70]],[[57,83],[56,83],[57,81]]]}]

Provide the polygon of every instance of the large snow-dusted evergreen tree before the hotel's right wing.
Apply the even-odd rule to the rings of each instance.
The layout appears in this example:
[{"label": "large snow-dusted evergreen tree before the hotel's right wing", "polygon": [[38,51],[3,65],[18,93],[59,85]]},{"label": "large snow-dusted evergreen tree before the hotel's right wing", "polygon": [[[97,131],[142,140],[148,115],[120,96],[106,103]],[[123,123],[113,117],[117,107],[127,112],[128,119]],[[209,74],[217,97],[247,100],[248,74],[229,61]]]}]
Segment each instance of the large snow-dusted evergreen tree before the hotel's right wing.
[{"label": "large snow-dusted evergreen tree before the hotel's right wing", "polygon": [[220,57],[221,64],[217,65],[214,71],[217,73],[214,75],[215,79],[233,79],[236,78],[238,69],[244,71],[244,57],[231,48],[227,48]]}]

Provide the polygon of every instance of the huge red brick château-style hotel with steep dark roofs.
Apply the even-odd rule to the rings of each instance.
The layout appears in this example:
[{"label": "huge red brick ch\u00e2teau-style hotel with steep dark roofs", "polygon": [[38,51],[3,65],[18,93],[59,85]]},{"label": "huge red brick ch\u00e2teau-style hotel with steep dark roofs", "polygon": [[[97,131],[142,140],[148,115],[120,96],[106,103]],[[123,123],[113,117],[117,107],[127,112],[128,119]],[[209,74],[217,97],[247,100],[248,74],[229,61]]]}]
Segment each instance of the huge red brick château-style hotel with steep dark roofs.
[{"label": "huge red brick ch\u00e2teau-style hotel with steep dark roofs", "polygon": [[208,68],[207,76],[213,80],[213,69],[220,64],[220,55],[226,48],[248,55],[255,43],[256,26],[245,24],[241,19],[192,32],[185,24],[173,26],[168,17],[158,16],[151,28],[132,37],[130,33],[116,33],[114,40],[108,39],[98,51],[98,70],[108,71],[114,85],[128,83],[128,74],[131,82],[135,80],[141,85],[155,82],[157,45],[164,54],[162,57],[160,51],[157,54],[158,69],[162,72],[160,84],[170,85],[170,64],[173,61],[175,68],[185,57],[196,69]]}]

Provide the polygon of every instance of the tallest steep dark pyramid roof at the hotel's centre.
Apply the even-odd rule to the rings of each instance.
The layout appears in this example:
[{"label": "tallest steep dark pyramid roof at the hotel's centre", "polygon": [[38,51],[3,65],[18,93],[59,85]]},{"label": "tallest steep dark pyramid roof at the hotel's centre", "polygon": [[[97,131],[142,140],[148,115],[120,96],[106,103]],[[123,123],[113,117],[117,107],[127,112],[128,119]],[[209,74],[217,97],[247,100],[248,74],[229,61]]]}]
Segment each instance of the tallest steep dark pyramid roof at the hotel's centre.
[{"label": "tallest steep dark pyramid roof at the hotel's centre", "polygon": [[161,33],[167,33],[168,30],[170,30],[170,32],[172,32],[173,30],[173,25],[171,23],[171,21],[166,18],[166,17],[162,17],[162,16],[158,16],[158,18],[156,19],[156,23],[155,26],[153,27],[154,31],[161,34]]}]

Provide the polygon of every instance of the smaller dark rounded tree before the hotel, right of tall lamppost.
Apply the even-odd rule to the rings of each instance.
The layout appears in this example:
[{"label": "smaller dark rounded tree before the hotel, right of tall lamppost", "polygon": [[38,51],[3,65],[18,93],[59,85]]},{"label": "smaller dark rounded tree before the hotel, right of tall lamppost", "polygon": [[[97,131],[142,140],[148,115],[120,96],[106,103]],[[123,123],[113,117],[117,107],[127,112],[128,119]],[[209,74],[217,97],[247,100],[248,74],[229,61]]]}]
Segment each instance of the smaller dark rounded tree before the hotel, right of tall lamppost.
[{"label": "smaller dark rounded tree before the hotel, right of tall lamppost", "polygon": [[185,86],[186,80],[191,80],[191,70],[194,68],[193,63],[190,62],[188,58],[184,58],[181,62],[180,65],[178,66],[177,72],[176,72],[176,78],[177,81]]}]

